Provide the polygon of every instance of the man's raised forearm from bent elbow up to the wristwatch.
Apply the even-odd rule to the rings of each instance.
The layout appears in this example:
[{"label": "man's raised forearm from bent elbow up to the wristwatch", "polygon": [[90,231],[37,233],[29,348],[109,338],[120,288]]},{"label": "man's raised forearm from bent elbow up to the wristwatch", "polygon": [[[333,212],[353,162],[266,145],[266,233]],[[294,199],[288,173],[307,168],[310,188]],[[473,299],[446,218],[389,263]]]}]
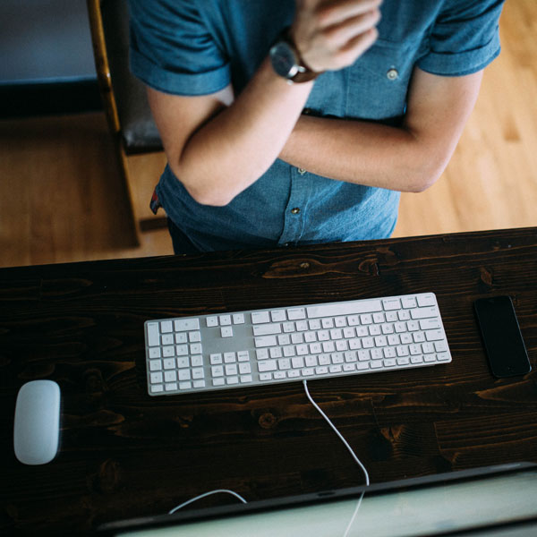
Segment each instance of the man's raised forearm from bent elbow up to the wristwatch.
[{"label": "man's raised forearm from bent elbow up to the wristwatch", "polygon": [[171,163],[201,203],[225,205],[276,160],[300,116],[311,83],[289,85],[268,61],[230,107],[202,125]]}]

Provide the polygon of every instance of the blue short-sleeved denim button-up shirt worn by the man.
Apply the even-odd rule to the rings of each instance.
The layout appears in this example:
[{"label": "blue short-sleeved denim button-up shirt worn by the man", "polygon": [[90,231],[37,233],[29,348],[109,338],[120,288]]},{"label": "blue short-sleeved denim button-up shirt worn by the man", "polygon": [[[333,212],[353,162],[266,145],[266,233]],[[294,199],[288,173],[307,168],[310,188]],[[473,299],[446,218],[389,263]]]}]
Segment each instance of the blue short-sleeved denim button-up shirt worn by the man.
[{"label": "blue short-sleeved denim button-up shirt worn by the man", "polygon": [[[243,90],[294,18],[294,0],[130,0],[131,68],[176,95]],[[304,114],[398,126],[414,67],[443,76],[499,55],[503,0],[384,0],[379,39],[353,65],[314,82]],[[322,150],[322,148],[320,148]],[[396,163],[394,163],[396,166]],[[277,159],[225,207],[192,199],[166,166],[160,203],[200,250],[388,237],[399,192],[334,181]]]}]

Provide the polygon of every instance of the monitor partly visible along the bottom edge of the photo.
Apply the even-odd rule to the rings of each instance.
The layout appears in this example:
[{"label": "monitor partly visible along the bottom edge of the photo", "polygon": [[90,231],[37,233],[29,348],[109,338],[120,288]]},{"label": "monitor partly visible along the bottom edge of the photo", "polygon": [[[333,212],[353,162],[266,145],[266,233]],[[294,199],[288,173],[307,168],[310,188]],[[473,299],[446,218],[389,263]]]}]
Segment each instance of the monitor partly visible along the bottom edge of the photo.
[{"label": "monitor partly visible along the bottom edge of the photo", "polygon": [[537,465],[488,466],[367,488],[190,509],[104,524],[99,530],[115,537],[534,536]]}]

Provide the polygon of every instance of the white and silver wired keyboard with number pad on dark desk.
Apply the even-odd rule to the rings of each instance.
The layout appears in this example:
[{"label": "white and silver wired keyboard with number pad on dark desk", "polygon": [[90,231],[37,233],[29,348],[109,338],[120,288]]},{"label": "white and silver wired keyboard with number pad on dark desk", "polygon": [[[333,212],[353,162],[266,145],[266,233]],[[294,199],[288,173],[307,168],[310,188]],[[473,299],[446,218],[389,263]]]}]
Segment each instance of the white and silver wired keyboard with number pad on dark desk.
[{"label": "white and silver wired keyboard with number pad on dark desk", "polygon": [[150,396],[451,362],[436,296],[148,320]]}]

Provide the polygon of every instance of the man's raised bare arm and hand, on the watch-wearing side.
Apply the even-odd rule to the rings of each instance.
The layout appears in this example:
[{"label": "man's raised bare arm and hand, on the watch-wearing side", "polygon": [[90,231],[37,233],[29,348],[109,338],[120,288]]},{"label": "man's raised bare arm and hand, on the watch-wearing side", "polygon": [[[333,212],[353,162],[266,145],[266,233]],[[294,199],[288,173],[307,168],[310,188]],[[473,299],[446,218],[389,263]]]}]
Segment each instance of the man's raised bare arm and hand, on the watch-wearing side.
[{"label": "man's raised bare arm and hand, on the watch-wearing side", "polygon": [[[296,0],[291,33],[314,71],[353,64],[378,36],[380,0]],[[310,95],[289,85],[268,58],[234,98],[231,86],[183,97],[149,89],[166,157],[194,200],[226,205],[277,159]]]}]

